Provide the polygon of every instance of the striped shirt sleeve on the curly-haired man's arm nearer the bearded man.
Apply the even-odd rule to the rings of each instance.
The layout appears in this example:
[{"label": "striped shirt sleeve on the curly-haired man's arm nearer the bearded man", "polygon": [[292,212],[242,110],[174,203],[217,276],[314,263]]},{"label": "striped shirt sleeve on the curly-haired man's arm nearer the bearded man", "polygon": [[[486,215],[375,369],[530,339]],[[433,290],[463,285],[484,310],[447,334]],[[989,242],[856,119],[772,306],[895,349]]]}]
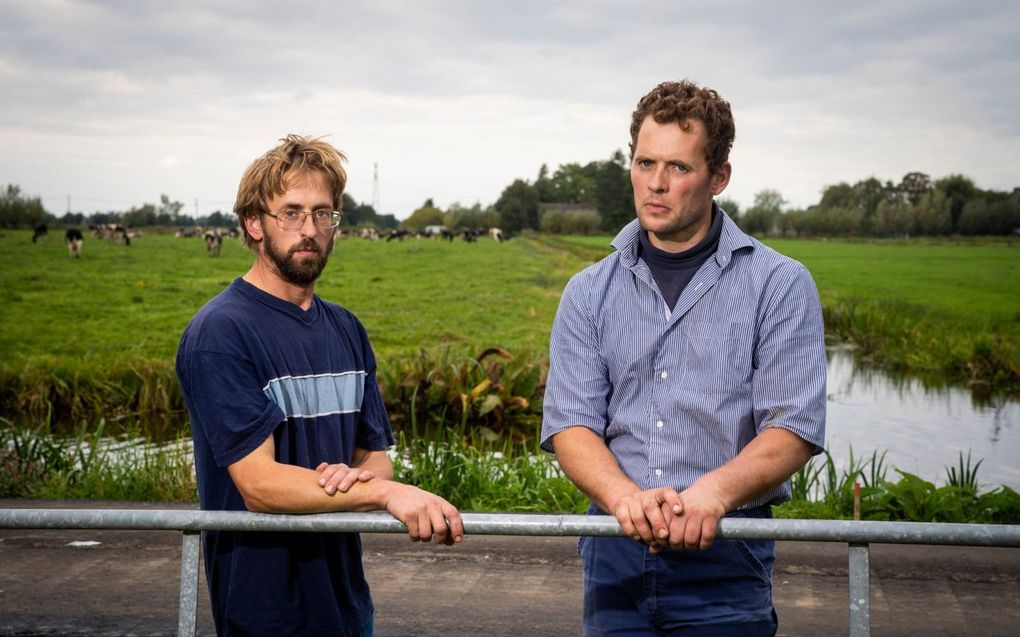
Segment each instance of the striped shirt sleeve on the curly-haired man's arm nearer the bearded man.
[{"label": "striped shirt sleeve on the curly-haired man's arm nearer the bearded man", "polygon": [[592,294],[583,275],[571,278],[553,322],[542,420],[542,448],[547,452],[553,450],[552,437],[569,427],[605,434],[611,385],[600,355]]}]

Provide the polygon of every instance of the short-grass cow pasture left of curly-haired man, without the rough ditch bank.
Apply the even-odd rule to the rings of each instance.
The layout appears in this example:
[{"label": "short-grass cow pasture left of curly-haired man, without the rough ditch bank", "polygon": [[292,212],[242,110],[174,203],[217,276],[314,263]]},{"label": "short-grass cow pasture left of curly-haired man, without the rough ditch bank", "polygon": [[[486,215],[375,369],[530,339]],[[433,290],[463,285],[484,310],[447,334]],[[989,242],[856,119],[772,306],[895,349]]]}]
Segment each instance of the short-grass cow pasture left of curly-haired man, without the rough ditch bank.
[{"label": "short-grass cow pasture left of curly-haired man, without the rough ditch bank", "polygon": [[[0,235],[0,364],[167,360],[188,321],[252,262],[199,238],[146,235],[130,247],[87,236],[67,257],[54,231]],[[559,296],[582,262],[528,240],[337,243],[317,291],[357,314],[380,355],[436,346],[545,353]]]}]

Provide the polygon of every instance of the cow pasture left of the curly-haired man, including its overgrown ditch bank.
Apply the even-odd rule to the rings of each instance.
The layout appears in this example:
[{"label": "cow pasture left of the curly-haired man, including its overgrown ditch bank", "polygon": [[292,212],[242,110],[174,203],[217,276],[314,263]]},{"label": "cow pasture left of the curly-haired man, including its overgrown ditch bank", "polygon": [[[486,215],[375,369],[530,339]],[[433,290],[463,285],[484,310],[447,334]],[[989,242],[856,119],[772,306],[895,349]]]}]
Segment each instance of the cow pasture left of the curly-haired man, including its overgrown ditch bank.
[{"label": "cow pasture left of the curly-haired man, including its overgrown ditch bank", "polygon": [[[166,234],[130,247],[87,237],[83,254],[68,258],[55,238],[34,245],[27,231],[0,235],[0,416],[67,430],[81,420],[162,413],[170,422],[144,428],[172,436],[184,409],[173,373],[181,333],[253,257],[238,241],[213,258],[200,240]],[[541,366],[560,293],[582,265],[526,238],[348,240],[338,243],[317,291],[365,323],[401,411],[409,409],[406,385],[414,377],[422,416],[453,408],[449,416],[459,421],[461,394],[488,375],[501,395],[472,392],[477,405],[468,407],[495,425],[504,411],[527,409],[511,387],[533,392],[539,373],[519,362]],[[493,348],[516,357],[507,371],[515,382],[499,382],[503,365],[468,364]],[[426,387],[437,378],[459,384]]]}]

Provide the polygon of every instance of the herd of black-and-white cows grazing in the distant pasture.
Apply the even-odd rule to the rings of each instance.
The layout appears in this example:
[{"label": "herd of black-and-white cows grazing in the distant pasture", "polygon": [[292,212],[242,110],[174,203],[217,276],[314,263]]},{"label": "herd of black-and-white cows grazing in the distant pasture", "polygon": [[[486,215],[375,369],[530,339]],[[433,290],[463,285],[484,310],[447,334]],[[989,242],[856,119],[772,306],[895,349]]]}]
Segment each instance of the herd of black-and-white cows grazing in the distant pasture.
[{"label": "herd of black-and-white cows grazing in the distant pasture", "polygon": [[[90,225],[89,232],[99,238],[108,238],[112,241],[117,246],[131,246],[133,238],[138,238],[142,236],[141,231],[129,230],[124,226],[118,223],[102,223],[97,225]],[[379,232],[375,228],[361,228],[357,230],[349,230],[346,228],[341,228],[338,231],[339,238],[348,238],[350,236],[359,236],[368,241],[379,241],[385,240],[387,242],[392,241],[404,241],[405,238],[442,238],[448,242],[460,237],[467,243],[472,243],[476,241],[479,236],[484,235],[486,230],[450,230],[443,226],[429,226],[418,232],[411,232],[410,230],[388,230]],[[500,228],[489,228],[489,236],[493,241],[502,244],[506,241],[503,230]],[[201,226],[195,226],[194,228],[185,229],[178,228],[174,232],[174,236],[187,237],[187,236],[202,236],[205,242],[205,250],[211,257],[218,257],[219,251],[223,247],[223,237],[238,237],[241,232],[238,228],[233,227],[230,229],[221,228],[211,228],[203,229]],[[45,223],[40,223],[34,228],[32,234],[32,243],[35,244],[42,238],[47,238],[49,236],[49,228]],[[75,259],[82,256],[82,246],[85,244],[85,236],[82,234],[82,230],[76,227],[69,227],[64,232],[64,244],[67,246],[67,254]]]}]

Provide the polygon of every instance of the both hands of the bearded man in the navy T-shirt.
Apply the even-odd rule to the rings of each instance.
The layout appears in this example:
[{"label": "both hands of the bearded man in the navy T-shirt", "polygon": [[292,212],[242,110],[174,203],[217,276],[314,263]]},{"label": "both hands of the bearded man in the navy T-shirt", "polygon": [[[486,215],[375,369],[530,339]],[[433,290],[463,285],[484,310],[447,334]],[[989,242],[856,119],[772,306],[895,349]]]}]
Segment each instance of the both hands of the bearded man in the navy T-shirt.
[{"label": "both hands of the bearded man in the navy T-shirt", "polygon": [[[319,486],[329,495],[346,493],[358,482],[368,482],[375,473],[368,469],[350,467],[344,463],[321,463]],[[382,508],[407,526],[414,541],[455,544],[464,538],[464,524],[460,512],[446,499],[410,484],[388,481]]]}]

